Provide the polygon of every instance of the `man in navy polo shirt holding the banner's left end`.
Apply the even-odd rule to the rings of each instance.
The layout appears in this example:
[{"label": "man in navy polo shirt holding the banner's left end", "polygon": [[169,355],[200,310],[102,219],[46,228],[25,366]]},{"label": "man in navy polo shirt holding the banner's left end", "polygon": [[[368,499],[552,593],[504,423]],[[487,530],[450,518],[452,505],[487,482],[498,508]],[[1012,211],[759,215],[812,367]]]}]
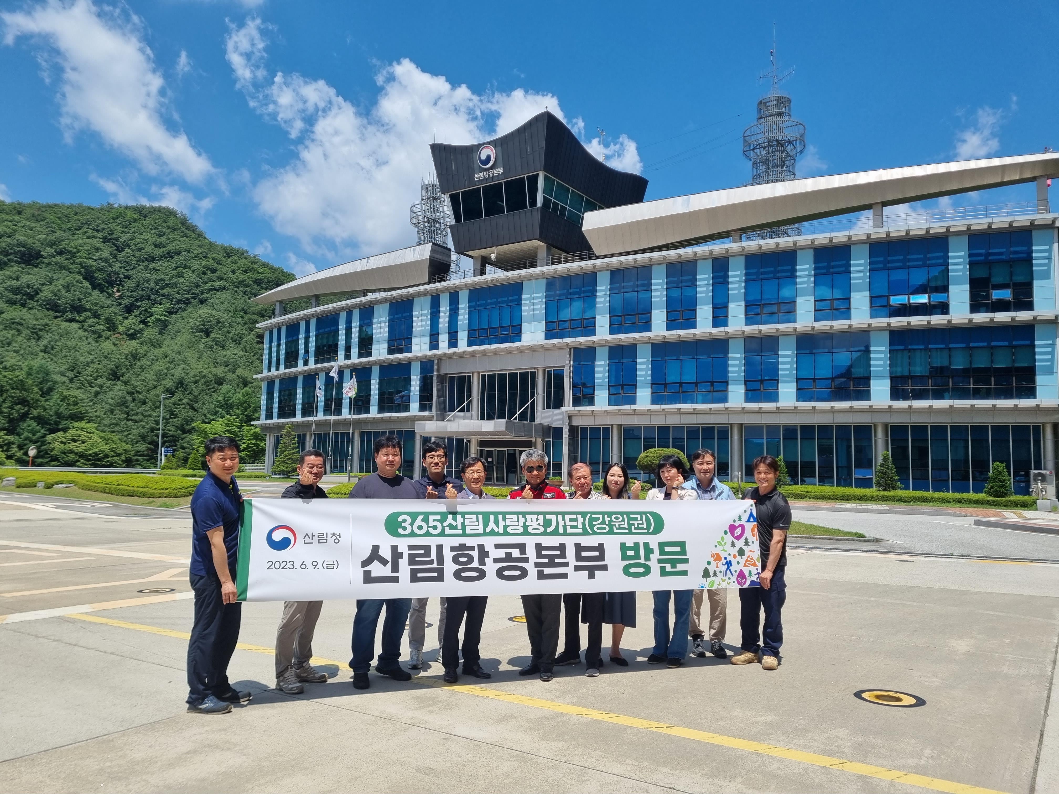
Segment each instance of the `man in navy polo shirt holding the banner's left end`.
[{"label": "man in navy polo shirt holding the banner's left end", "polygon": [[207,439],[209,471],[192,497],[192,590],[195,624],[187,643],[187,710],[227,714],[247,703],[228,682],[228,663],[239,639],[243,604],[236,600],[235,570],[239,545],[239,443],[227,435]]}]

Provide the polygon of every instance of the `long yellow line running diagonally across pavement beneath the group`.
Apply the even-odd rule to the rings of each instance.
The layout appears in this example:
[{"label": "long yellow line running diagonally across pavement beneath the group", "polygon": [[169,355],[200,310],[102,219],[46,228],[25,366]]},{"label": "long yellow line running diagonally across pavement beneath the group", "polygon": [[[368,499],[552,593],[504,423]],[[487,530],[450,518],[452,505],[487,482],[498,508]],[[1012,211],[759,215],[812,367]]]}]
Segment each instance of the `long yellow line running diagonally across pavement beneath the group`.
[{"label": "long yellow line running diagonally across pavement beneath the group", "polygon": [[[100,617],[98,615],[76,614],[68,615],[68,617],[75,617],[79,620],[88,620],[89,622],[104,624],[106,626],[115,626],[121,629],[146,631],[151,634],[161,634],[162,636],[173,637],[175,639],[189,639],[191,637],[191,634],[185,631],[174,631],[173,629],[162,629],[157,626],[145,626],[144,624],[131,624],[126,622],[125,620],[115,620],[111,617]],[[246,643],[239,643],[236,648],[244,651],[253,651],[255,653],[266,653],[270,656],[275,653],[273,648],[266,648],[261,645],[248,645]],[[316,656],[311,661],[315,664],[320,665],[338,665],[340,668],[343,664],[336,660]],[[757,753],[759,755],[774,756],[776,758],[786,758],[790,761],[808,763],[813,766],[824,766],[827,769],[838,770],[840,772],[849,772],[855,775],[875,777],[880,780],[894,780],[899,783],[915,786],[920,789],[946,792],[946,794],[1005,794],[1004,792],[1000,792],[994,789],[983,789],[977,786],[957,783],[952,780],[928,777],[927,775],[916,775],[911,772],[900,772],[898,770],[886,769],[885,766],[876,766],[870,763],[860,763],[858,761],[848,761],[842,758],[831,758],[830,756],[823,756],[816,753],[806,753],[801,750],[791,750],[790,747],[780,747],[775,744],[765,744],[762,742],[755,742],[749,739],[738,739],[733,736],[712,734],[706,730],[697,730],[695,728],[681,727],[680,725],[670,725],[665,722],[654,722],[653,720],[644,720],[639,717],[627,717],[625,715],[611,714],[610,711],[602,711],[596,708],[573,706],[568,703],[557,703],[555,701],[541,700],[540,698],[531,698],[525,694],[515,694],[514,692],[505,692],[501,689],[489,689],[488,687],[475,686],[473,684],[450,685],[443,683],[438,679],[424,679],[423,676],[415,676],[412,681],[416,684],[435,687],[438,689],[446,689],[452,692],[473,694],[479,698],[488,698],[490,700],[502,701],[505,703],[515,703],[517,705],[528,706],[531,708],[541,708],[546,711],[557,711],[558,714],[570,715],[571,717],[584,717],[590,720],[610,722],[615,725],[624,725],[626,727],[652,730],[658,734],[668,734],[669,736],[678,736],[682,739],[690,739],[692,741],[704,742],[706,744],[717,744],[732,750],[741,750],[748,753]]]}]

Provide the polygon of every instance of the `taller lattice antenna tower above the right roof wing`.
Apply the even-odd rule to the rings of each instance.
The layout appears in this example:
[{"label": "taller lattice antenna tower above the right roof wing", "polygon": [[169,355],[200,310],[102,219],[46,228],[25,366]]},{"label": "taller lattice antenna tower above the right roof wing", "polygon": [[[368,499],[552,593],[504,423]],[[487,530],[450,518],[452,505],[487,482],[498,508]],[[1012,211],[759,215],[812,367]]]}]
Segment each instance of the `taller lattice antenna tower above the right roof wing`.
[{"label": "taller lattice antenna tower above the right roof wing", "polygon": [[[769,51],[772,68],[761,72],[759,79],[768,79],[769,92],[757,101],[757,122],[742,133],[742,154],[753,165],[751,184],[786,182],[795,179],[794,161],[805,151],[805,125],[791,118],[791,97],[779,90],[779,84],[794,74],[794,67],[776,66],[776,26],[772,25],[772,50]],[[748,239],[795,237],[801,227],[787,225],[751,232]]]}]

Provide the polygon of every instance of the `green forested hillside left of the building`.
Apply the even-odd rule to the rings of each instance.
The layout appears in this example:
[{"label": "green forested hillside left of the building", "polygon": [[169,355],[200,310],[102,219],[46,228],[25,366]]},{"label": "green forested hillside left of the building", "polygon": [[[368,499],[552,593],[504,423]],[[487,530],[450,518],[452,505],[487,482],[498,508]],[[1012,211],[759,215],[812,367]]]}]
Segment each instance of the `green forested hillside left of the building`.
[{"label": "green forested hillside left of the building", "polygon": [[168,207],[0,201],[0,458],[154,466],[163,393],[166,446],[223,419],[259,456],[249,299],[291,278]]}]

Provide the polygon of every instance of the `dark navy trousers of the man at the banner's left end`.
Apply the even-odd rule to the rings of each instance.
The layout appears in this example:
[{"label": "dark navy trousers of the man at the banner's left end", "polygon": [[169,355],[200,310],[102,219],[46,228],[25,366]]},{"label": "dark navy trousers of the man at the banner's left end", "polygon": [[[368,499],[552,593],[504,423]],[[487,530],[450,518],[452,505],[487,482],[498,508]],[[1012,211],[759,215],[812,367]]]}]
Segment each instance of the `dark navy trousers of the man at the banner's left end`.
[{"label": "dark navy trousers of the man at the banner's left end", "polygon": [[187,703],[197,706],[211,694],[232,691],[228,663],[239,642],[243,604],[225,603],[216,574],[192,574],[191,582],[195,591],[195,622],[187,642]]}]

